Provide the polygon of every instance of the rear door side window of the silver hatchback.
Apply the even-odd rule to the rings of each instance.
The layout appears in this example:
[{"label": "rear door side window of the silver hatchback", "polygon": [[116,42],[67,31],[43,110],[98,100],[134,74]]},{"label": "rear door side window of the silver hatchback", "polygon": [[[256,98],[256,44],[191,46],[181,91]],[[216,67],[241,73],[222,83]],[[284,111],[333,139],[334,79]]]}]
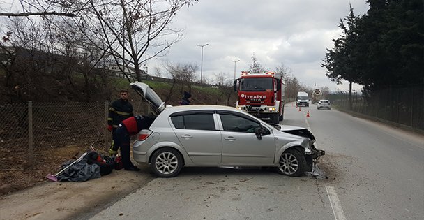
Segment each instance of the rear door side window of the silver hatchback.
[{"label": "rear door side window of the silver hatchback", "polygon": [[179,115],[171,121],[176,129],[215,130],[212,114]]}]

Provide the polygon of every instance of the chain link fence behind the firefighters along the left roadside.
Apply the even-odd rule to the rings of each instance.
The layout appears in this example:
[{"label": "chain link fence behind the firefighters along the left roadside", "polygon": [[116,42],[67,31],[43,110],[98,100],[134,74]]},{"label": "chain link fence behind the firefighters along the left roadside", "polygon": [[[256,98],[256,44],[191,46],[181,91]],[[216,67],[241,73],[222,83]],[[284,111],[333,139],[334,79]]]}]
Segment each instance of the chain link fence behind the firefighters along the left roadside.
[{"label": "chain link fence behind the firefighters along the left roadside", "polygon": [[[149,111],[142,101],[132,105],[135,115]],[[108,101],[0,105],[0,170],[20,170],[22,161],[32,163],[50,150],[70,145],[107,150],[112,141],[108,110]]]}]

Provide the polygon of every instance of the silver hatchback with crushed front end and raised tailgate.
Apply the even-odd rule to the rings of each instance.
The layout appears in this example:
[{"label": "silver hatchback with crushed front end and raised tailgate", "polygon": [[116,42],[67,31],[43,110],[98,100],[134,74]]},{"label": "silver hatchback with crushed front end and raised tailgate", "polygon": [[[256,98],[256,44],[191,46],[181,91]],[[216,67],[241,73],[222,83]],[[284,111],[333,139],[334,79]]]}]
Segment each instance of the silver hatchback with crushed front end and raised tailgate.
[{"label": "silver hatchback with crushed front end and raised tailgate", "polygon": [[139,132],[132,156],[158,177],[175,177],[183,166],[275,167],[301,176],[325,154],[307,129],[267,124],[228,106],[165,106],[148,85],[131,85],[158,115]]}]

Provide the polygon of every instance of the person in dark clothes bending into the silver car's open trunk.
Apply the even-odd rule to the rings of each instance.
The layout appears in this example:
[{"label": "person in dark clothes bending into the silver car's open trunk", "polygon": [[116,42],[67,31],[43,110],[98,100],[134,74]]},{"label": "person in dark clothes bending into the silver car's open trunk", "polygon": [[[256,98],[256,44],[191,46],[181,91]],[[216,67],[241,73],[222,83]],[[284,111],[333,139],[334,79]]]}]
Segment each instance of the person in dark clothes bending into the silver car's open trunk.
[{"label": "person in dark clothes bending into the silver car's open trunk", "polygon": [[149,129],[153,123],[153,117],[136,115],[125,119],[116,129],[116,145],[121,147],[123,168],[130,171],[140,170],[134,166],[130,159],[130,136],[139,133],[142,129]]}]

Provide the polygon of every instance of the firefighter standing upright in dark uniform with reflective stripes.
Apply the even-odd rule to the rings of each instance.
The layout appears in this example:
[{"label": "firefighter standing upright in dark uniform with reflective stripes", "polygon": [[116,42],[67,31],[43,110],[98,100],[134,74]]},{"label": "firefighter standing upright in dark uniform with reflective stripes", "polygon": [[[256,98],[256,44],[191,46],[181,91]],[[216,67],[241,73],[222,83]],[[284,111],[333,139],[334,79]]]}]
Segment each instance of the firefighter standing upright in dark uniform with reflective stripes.
[{"label": "firefighter standing upright in dark uniform with reflective stripes", "polygon": [[110,156],[116,156],[119,146],[116,145],[116,128],[128,117],[132,117],[132,105],[128,101],[128,91],[121,90],[120,98],[112,103],[107,117],[107,130],[112,131],[112,145],[109,148]]}]

